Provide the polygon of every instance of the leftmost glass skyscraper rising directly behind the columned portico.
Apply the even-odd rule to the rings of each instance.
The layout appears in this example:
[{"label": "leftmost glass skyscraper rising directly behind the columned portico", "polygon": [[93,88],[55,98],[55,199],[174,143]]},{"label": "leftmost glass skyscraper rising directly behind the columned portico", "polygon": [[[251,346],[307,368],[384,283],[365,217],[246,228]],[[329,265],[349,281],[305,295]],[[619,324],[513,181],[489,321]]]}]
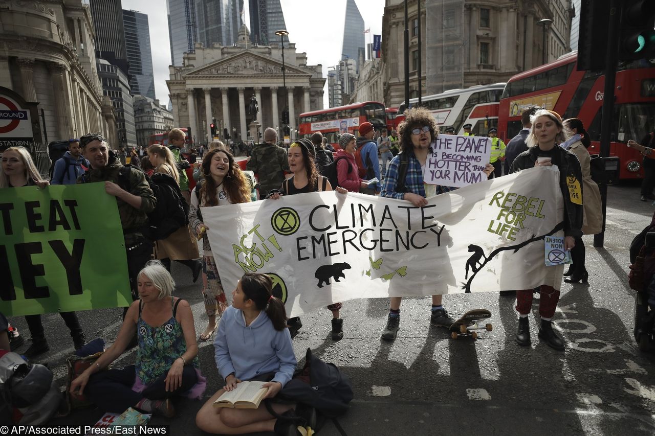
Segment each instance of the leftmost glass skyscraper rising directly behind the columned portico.
[{"label": "leftmost glass skyscraper rising directly behind the columned portico", "polygon": [[182,58],[192,53],[196,43],[196,8],[193,0],[166,0],[168,37],[172,65],[182,65]]}]

